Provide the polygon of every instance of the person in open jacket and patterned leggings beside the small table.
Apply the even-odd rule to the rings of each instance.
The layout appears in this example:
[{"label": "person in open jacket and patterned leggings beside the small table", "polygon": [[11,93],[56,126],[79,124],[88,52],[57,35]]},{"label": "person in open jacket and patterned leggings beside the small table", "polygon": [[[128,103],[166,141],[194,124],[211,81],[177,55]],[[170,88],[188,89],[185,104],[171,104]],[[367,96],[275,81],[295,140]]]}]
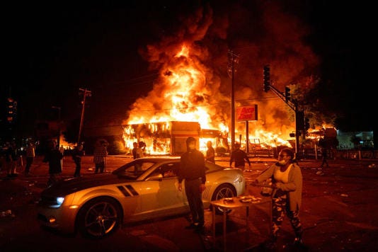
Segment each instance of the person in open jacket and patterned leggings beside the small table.
[{"label": "person in open jacket and patterned leggings beside the small table", "polygon": [[253,184],[260,184],[272,178],[272,234],[266,244],[268,248],[275,248],[278,231],[281,229],[284,214],[287,215],[294,229],[295,246],[303,246],[302,223],[299,219],[299,209],[302,204],[302,171],[294,159],[292,149],[282,149],[277,163],[261,173]]}]

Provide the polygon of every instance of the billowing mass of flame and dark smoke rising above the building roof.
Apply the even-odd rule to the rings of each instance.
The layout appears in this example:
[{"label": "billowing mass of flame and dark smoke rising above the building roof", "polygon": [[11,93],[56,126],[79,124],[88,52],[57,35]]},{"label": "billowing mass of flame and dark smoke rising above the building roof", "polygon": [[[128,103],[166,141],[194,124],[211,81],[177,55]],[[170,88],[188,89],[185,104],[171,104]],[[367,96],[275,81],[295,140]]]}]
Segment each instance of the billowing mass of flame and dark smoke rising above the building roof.
[{"label": "billowing mass of flame and dark smoke rising above the building roof", "polygon": [[[299,19],[277,3],[258,1],[207,4],[177,22],[180,29],[144,48],[159,78],[147,96],[132,104],[124,124],[183,120],[200,122],[202,128],[230,127],[233,69],[235,107],[258,105],[250,135],[287,139],[294,130],[292,110],[263,91],[262,73],[270,64],[272,84],[279,90],[316,74],[319,59],[304,43],[307,28]],[[229,52],[235,55],[234,68]],[[236,132],[244,134],[245,123],[237,123]]]}]

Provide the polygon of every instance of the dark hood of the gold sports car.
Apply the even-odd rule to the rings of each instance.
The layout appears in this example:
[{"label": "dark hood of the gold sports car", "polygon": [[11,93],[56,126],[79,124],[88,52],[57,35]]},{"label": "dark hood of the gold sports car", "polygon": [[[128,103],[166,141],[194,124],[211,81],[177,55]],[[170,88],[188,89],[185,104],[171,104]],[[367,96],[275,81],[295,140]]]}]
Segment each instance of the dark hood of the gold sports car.
[{"label": "dark hood of the gold sports car", "polygon": [[93,188],[101,185],[111,185],[116,183],[128,182],[125,178],[120,178],[113,174],[95,174],[93,176],[85,176],[78,178],[67,178],[63,181],[58,181],[50,188],[42,191],[42,195],[69,195],[71,193],[84,190],[86,188]]}]

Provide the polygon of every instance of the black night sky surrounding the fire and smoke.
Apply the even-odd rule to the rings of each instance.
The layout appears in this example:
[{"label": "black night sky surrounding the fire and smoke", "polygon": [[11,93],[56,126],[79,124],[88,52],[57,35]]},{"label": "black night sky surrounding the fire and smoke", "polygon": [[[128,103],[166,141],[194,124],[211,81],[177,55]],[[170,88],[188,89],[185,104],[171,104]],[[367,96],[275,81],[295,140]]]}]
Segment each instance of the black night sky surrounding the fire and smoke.
[{"label": "black night sky surrounding the fire and smoke", "polygon": [[[285,1],[285,5],[282,1],[110,2],[85,6],[33,2],[3,9],[6,71],[1,103],[8,96],[18,101],[18,122],[26,131],[35,120],[56,117],[52,106],[62,108],[64,121],[79,118],[79,88],[92,92],[87,100],[87,125],[120,124],[129,106],[151,90],[157,78],[156,69],[141,53],[147,45],[178,33],[182,17],[200,6],[210,6],[214,24],[227,17],[227,35],[219,44],[237,49],[238,41],[244,40],[258,45],[260,34],[267,33],[259,23],[258,11],[265,2],[268,6],[281,3],[282,13],[306,27],[301,39],[319,57],[317,68],[311,69],[322,79],[319,99],[339,115],[340,127],[365,131],[376,127],[370,63],[376,30],[372,28],[372,6],[301,0]],[[217,40],[212,39],[213,47]],[[227,50],[219,53],[227,57]],[[269,60],[268,55],[263,58]],[[258,71],[262,71],[263,64],[260,66]]]}]

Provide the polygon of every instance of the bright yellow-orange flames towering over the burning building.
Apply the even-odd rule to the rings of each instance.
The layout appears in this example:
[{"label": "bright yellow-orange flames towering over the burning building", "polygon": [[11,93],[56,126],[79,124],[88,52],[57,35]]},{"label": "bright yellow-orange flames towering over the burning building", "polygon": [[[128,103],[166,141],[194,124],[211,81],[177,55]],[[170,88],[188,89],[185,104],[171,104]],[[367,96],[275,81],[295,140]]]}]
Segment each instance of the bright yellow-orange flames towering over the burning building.
[{"label": "bright yellow-orange flames towering over the burning building", "polygon": [[[154,138],[153,135],[157,132],[169,131],[168,122],[180,121],[198,122],[200,129],[217,131],[217,134],[210,137],[198,132],[202,151],[205,151],[207,141],[212,141],[214,147],[224,147],[229,151],[231,136],[227,125],[229,116],[225,111],[229,109],[227,106],[230,104],[230,98],[214,90],[216,84],[207,78],[210,69],[201,64],[197,57],[193,57],[191,50],[188,45],[182,45],[161,70],[159,83],[154,86],[154,90],[146,98],[139,98],[134,103],[134,109],[130,111],[129,120],[124,127],[127,147],[131,148],[132,142],[142,141],[146,143],[149,154],[170,153],[169,137],[164,137],[164,141],[157,143],[159,147],[156,148],[156,137]],[[144,124],[147,124],[144,133],[136,134],[132,125]],[[253,123],[253,130],[248,132],[248,144],[251,146],[263,144],[265,147],[290,146],[290,142],[282,139],[280,134],[263,130],[261,126]],[[236,136],[241,136],[242,146],[246,144],[246,132],[243,128],[244,123],[243,125],[240,123],[235,132]]]}]

